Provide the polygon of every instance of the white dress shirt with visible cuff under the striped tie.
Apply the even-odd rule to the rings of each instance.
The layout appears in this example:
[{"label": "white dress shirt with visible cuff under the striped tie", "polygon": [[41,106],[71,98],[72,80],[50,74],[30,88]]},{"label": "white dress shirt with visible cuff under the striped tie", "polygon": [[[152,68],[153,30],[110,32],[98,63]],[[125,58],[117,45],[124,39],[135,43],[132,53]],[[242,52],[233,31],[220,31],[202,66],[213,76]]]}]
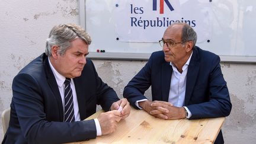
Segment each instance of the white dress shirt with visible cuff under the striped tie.
[{"label": "white dress shirt with visible cuff under the striped tie", "polygon": [[[56,69],[53,67],[52,63],[49,60],[49,64],[50,64],[50,68],[52,69],[53,75],[55,76],[58,88],[59,88],[59,92],[60,92],[60,97],[62,99],[62,105],[63,105],[63,111],[65,111],[65,107],[64,107],[64,103],[65,103],[65,99],[64,99],[64,92],[65,92],[65,80],[66,78],[62,75],[60,75],[59,72],[56,71]],[[79,114],[79,108],[78,108],[78,100],[76,97],[76,90],[75,90],[75,84],[73,82],[73,79],[71,78],[71,89],[72,89],[72,93],[73,93],[73,107],[74,107],[74,115],[75,115],[75,121],[80,121],[80,114]],[[63,119],[64,119],[64,114],[63,114]],[[100,122],[98,121],[98,119],[94,119],[95,121],[95,126],[97,129],[97,136],[101,136],[101,127],[100,127]]]}]

